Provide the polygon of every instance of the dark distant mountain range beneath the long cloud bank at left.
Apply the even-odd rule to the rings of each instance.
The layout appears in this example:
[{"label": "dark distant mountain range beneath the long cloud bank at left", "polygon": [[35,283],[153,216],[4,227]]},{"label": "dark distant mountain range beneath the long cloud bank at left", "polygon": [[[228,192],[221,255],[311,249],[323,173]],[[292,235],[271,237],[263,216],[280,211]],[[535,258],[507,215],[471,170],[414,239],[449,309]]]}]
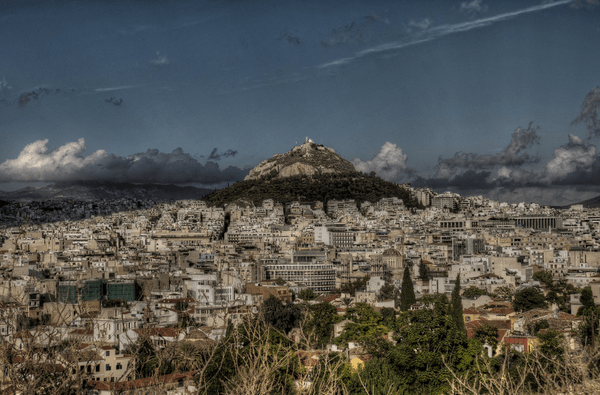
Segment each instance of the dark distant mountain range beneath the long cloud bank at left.
[{"label": "dark distant mountain range beneath the long cloud bank at left", "polygon": [[43,187],[26,187],[16,191],[0,191],[0,200],[100,199],[184,200],[200,199],[212,189],[163,184],[127,184],[111,182],[57,182]]}]

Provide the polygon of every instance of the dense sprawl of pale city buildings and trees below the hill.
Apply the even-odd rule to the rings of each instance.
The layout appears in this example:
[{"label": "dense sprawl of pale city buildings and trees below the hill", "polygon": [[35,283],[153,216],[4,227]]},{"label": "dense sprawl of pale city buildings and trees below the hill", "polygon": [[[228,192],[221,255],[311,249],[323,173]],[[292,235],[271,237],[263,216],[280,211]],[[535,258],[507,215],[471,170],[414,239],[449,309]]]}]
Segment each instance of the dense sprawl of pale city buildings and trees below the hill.
[{"label": "dense sprawl of pale city buildings and trees below the hill", "polygon": [[[304,152],[298,160],[314,164],[316,150],[307,139],[285,158]],[[281,178],[297,163],[283,166]],[[230,384],[248,380],[243,364],[264,363],[252,354],[260,341],[285,355],[271,351],[272,366],[263,366],[270,371],[245,372],[273,387],[242,393],[279,393],[283,384],[283,393],[323,393],[318,366],[337,375],[329,393],[372,394],[448,391],[484,355],[495,363],[540,352],[576,359],[573,366],[597,363],[599,209],[396,187],[413,207],[397,197],[224,207],[209,197],[3,202],[3,391],[236,393]],[[419,343],[443,330],[437,341],[464,347],[470,362],[452,365],[457,351],[442,348],[426,367],[396,365],[395,375],[410,371],[412,379],[381,381],[382,361],[410,341],[402,322],[416,325],[421,313],[446,321],[425,323]],[[253,325],[277,335],[247,338],[253,351],[226,371],[223,349],[242,347],[232,336]],[[30,380],[40,369],[46,379]],[[561,385],[527,382],[521,390]]]}]

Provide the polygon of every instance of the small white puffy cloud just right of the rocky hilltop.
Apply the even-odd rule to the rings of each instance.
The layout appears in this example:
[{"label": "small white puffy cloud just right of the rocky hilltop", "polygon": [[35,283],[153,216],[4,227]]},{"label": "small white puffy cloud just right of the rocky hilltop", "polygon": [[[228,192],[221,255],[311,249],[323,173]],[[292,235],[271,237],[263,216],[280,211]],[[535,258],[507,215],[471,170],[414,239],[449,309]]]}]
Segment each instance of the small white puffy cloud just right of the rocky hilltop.
[{"label": "small white puffy cloud just right of the rocky hilltop", "polygon": [[406,166],[406,159],[407,155],[402,152],[400,147],[387,142],[381,146],[379,153],[372,160],[363,162],[356,158],[352,163],[358,171],[364,173],[374,171],[385,180],[397,181],[401,173],[409,170]]}]

